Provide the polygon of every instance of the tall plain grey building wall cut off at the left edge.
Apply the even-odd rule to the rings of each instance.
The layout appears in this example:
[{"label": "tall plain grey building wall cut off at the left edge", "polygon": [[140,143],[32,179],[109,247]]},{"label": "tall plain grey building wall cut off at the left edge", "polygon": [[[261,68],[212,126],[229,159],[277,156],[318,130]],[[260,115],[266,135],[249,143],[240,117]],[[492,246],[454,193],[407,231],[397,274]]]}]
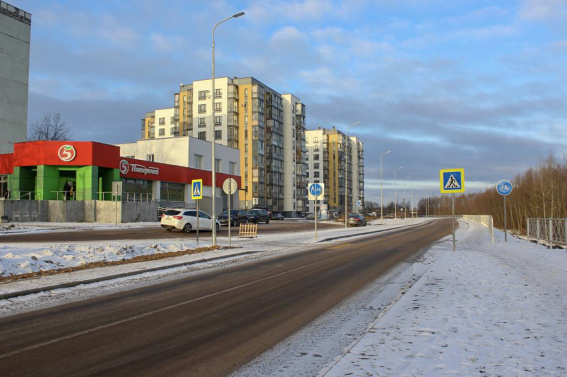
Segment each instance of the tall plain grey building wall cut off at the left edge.
[{"label": "tall plain grey building wall cut off at the left edge", "polygon": [[31,14],[0,1],[0,153],[27,140]]}]

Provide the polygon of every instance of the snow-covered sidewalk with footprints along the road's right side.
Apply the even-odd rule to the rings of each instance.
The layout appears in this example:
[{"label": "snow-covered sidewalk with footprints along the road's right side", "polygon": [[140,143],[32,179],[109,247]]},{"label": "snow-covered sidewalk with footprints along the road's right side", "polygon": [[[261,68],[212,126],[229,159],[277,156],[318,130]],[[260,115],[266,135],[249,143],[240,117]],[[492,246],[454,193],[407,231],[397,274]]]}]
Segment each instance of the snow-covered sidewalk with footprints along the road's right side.
[{"label": "snow-covered sidewalk with footprints along the road's right side", "polygon": [[461,222],[420,280],[319,376],[565,376],[567,253]]}]

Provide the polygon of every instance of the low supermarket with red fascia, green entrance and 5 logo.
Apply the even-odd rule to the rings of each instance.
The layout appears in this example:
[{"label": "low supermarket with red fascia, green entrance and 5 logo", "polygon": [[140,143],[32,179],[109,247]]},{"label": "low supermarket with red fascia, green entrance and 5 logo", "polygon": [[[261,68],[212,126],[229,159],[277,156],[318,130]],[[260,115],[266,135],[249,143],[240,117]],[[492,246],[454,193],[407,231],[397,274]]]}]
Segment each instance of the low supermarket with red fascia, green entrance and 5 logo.
[{"label": "low supermarket with red fascia, green entrance and 5 logo", "polygon": [[[196,179],[202,180],[199,206],[210,212],[209,142],[187,137],[175,144],[139,143],[139,148],[137,143],[123,147],[72,141],[15,143],[13,153],[0,154],[0,215],[8,221],[114,222],[120,205],[122,222],[155,221],[161,206],[194,203],[191,182]],[[138,149],[146,160],[133,153]],[[172,160],[179,164],[164,162]],[[234,174],[239,172],[239,152],[219,146],[215,160],[215,206],[222,209],[228,199],[221,189],[224,180],[240,183],[240,176]],[[237,201],[237,195],[231,201]]]}]

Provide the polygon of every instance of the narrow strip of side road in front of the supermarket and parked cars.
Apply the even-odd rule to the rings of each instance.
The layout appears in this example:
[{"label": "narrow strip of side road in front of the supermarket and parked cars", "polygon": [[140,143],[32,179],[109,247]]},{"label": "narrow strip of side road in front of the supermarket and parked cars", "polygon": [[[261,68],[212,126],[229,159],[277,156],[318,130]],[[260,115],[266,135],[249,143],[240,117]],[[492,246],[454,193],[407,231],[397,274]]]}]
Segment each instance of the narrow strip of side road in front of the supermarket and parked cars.
[{"label": "narrow strip of side road in front of the supermarket and parked cars", "polygon": [[[157,223],[156,223],[157,224]],[[340,228],[341,223],[318,223],[317,229]],[[258,233],[296,232],[315,229],[313,221],[270,221],[269,224],[258,224]],[[231,228],[232,235],[238,235],[238,227]],[[211,232],[199,232],[199,238],[210,238]],[[228,227],[221,227],[218,235],[228,236]],[[168,232],[161,227],[116,228],[99,230],[73,230],[45,233],[7,234],[0,236],[0,242],[76,242],[76,241],[120,241],[120,240],[152,240],[171,238],[195,238],[196,232]]]}]

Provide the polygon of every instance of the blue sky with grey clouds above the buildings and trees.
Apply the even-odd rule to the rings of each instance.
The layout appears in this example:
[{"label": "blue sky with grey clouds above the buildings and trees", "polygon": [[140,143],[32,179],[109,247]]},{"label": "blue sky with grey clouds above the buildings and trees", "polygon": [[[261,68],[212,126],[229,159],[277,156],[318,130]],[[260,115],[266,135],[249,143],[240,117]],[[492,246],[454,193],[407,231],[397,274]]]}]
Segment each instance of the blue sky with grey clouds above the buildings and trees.
[{"label": "blue sky with grey clouds above the buildings and trees", "polygon": [[60,113],[73,140],[139,139],[145,112],[211,77],[213,26],[244,11],[216,30],[216,77],[293,93],[308,129],[360,122],[366,200],[388,150],[385,202],[440,195],[441,169],[477,192],[566,152],[567,0],[9,3],[32,14],[28,123]]}]

